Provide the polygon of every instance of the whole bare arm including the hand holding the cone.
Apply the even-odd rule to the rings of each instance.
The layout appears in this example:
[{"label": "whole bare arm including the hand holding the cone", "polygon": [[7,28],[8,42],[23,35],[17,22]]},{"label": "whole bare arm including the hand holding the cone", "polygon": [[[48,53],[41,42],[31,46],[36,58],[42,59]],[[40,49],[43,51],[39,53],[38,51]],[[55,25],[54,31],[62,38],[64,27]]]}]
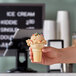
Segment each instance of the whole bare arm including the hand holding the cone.
[{"label": "whole bare arm including the hand holding the cone", "polygon": [[[32,48],[30,48],[30,59],[33,62]],[[51,65],[56,63],[76,63],[76,47],[62,49],[44,47],[40,64]]]}]

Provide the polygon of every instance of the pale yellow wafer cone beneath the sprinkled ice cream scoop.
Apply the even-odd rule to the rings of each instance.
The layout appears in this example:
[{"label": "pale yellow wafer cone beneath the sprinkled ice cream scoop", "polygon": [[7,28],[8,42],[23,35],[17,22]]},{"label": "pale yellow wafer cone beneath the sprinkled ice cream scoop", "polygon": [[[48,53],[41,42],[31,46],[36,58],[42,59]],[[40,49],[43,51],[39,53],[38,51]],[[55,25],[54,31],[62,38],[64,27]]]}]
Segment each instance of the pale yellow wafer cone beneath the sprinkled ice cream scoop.
[{"label": "pale yellow wafer cone beneath the sprinkled ice cream scoop", "polygon": [[32,52],[33,52],[33,61],[34,62],[41,62],[42,59],[42,48],[44,44],[34,44],[31,45]]}]

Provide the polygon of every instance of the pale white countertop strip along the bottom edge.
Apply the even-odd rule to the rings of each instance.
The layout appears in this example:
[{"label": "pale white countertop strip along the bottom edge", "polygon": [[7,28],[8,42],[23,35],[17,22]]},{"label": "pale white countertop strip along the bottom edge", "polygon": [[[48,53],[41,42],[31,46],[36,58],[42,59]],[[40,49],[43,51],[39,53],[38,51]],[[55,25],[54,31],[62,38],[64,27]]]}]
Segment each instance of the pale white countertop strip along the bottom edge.
[{"label": "pale white countertop strip along the bottom edge", "polygon": [[76,76],[76,73],[4,73],[0,76]]}]

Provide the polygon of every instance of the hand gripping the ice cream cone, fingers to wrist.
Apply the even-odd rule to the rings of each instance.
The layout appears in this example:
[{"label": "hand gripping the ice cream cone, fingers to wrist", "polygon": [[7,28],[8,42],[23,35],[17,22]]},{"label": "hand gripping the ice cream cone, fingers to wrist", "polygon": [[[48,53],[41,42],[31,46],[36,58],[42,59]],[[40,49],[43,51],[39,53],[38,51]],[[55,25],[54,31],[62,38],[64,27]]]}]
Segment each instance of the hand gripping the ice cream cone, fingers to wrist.
[{"label": "hand gripping the ice cream cone, fingers to wrist", "polygon": [[[35,63],[33,61],[33,52],[32,48],[30,47],[30,59],[32,63]],[[59,55],[59,49],[52,48],[52,47],[44,47],[42,48],[42,61],[39,62],[40,64],[44,65],[51,65],[55,63],[60,62],[60,55]]]}]

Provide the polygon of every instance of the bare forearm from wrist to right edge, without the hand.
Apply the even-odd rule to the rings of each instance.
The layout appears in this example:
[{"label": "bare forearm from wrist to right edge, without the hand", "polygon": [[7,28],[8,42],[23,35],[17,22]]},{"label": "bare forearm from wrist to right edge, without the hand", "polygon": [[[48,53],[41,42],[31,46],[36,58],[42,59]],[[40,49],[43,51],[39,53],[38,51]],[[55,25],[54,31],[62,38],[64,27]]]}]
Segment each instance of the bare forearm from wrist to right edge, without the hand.
[{"label": "bare forearm from wrist to right edge, without the hand", "polygon": [[59,63],[76,63],[76,47],[63,48],[58,51]]}]

